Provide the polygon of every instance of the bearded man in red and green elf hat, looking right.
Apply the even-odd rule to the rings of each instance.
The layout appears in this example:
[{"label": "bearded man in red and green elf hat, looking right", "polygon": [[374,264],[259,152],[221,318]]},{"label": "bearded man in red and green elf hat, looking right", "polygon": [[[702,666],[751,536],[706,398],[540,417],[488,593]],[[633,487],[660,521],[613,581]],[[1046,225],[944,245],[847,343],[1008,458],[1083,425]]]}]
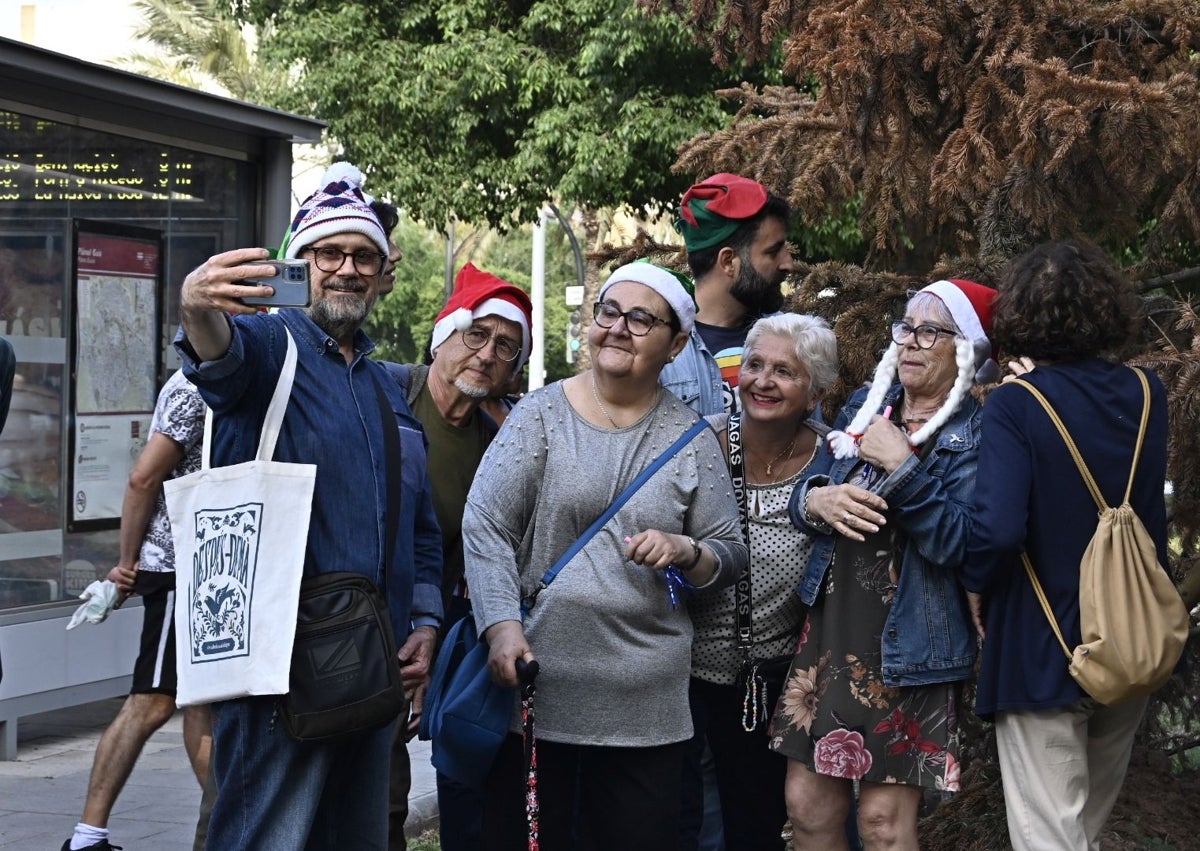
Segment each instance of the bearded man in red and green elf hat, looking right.
[{"label": "bearded man in red and green elf hat, looking right", "polygon": [[784,305],[790,218],[787,202],[737,174],[714,174],[684,193],[676,230],[696,281],[696,326],[659,380],[698,414],[739,409],[746,332]]}]

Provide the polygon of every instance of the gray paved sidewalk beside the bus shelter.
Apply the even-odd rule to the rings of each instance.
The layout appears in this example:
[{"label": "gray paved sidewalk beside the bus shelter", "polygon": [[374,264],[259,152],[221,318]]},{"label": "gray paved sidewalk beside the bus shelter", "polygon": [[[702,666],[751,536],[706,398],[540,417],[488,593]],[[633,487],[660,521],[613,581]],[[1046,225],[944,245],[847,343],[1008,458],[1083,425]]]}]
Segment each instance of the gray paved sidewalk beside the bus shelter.
[{"label": "gray paved sidewalk beside the bus shelter", "polygon": [[[88,791],[91,759],[124,699],[86,703],[18,726],[17,759],[0,761],[0,849],[59,851],[71,837]],[[412,742],[408,835],[437,823],[430,743]],[[184,750],[182,713],[148,743],[109,819],[112,841],[128,851],[190,851],[200,787]]]}]

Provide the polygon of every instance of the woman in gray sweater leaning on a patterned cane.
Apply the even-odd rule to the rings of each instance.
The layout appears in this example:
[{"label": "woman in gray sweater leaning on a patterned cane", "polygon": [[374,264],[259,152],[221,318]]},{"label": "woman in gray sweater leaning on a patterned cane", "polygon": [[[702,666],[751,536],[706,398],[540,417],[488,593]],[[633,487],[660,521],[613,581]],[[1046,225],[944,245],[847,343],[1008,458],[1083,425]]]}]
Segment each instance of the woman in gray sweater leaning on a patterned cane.
[{"label": "woman in gray sweater leaning on a patterned cane", "polygon": [[[463,539],[475,623],[497,682],[538,659],[540,846],[658,851],[678,835],[691,619],[666,569],[722,587],[746,562],[725,459],[701,432],[563,568],[522,623],[521,603],[624,487],[695,421],[659,386],[695,302],[648,263],[618,269],[588,331],[592,368],[535,390],[480,463]],[[524,849],[520,718],[487,779],[486,849]]]}]

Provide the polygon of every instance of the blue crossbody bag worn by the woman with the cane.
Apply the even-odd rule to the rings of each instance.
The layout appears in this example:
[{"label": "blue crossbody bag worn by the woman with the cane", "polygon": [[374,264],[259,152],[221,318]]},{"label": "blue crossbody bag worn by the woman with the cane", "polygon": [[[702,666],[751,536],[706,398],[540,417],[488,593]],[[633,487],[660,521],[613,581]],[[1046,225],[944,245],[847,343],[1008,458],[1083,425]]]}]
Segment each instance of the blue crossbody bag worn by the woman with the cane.
[{"label": "blue crossbody bag worn by the woman with the cane", "polygon": [[[620,492],[612,505],[545,573],[536,591],[522,604],[522,618],[533,606],[538,592],[554,580],[558,571],[617,514],[629,497],[707,427],[704,420],[697,421]],[[517,691],[492,682],[487,670],[487,642],[480,640],[473,616],[468,615],[450,628],[433,663],[430,688],[425,693],[425,708],[416,731],[418,736],[431,739],[433,744],[433,767],[451,780],[474,789],[482,787],[496,754],[509,735]]]}]

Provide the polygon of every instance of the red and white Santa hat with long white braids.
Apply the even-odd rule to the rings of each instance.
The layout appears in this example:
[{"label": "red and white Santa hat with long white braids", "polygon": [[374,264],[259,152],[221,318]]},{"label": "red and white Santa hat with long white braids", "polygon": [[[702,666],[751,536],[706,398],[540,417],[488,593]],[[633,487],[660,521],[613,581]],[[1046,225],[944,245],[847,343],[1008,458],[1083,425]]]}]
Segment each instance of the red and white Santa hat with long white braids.
[{"label": "red and white Santa hat with long white braids", "polygon": [[[1000,379],[1000,365],[996,362],[996,349],[988,338],[991,332],[991,302],[996,290],[974,281],[950,278],[935,281],[922,288],[917,294],[928,293],[946,305],[959,332],[954,335],[954,355],[959,367],[958,378],[946,402],[938,408],[924,426],[908,437],[913,447],[920,447],[931,435],[948,420],[973,384],[989,384]],[[871,389],[866,394],[863,407],[846,426],[846,431],[832,431],[826,437],[830,451],[839,459],[857,457],[858,441],[870,425],[871,418],[880,413],[883,398],[895,379],[896,364],[900,359],[900,344],[893,342],[875,368]]]}]

